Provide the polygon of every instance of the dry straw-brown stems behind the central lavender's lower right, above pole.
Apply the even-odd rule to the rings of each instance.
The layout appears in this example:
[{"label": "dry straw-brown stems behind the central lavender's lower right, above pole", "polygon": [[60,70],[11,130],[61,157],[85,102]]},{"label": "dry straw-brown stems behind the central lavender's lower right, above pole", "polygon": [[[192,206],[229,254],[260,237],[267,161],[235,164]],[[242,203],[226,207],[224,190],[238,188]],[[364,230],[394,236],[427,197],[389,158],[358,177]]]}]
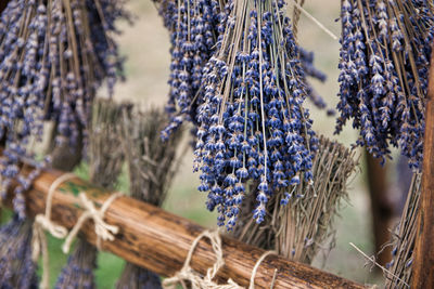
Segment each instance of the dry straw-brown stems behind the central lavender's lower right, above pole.
[{"label": "dry straw-brown stems behind the central lavender's lower right, above pole", "polygon": [[346,183],[357,166],[354,155],[342,144],[321,136],[312,162],[314,184],[301,182],[295,186],[286,207],[279,206],[282,191],[273,195],[261,224],[252,220],[255,197],[248,196],[233,236],[292,260],[310,263],[334,234],[333,219],[341,200],[347,197]]}]

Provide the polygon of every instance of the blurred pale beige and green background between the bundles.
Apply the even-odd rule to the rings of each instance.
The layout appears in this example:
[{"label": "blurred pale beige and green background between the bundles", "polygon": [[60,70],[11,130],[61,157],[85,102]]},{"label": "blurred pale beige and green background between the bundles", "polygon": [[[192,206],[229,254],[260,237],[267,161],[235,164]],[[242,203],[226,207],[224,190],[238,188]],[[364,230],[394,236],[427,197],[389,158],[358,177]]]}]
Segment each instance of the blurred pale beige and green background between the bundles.
[{"label": "blurred pale beige and green background between the bundles", "polygon": [[[291,13],[292,1],[288,1],[290,2],[288,11]],[[163,106],[168,92],[168,34],[151,0],[130,0],[128,6],[135,14],[135,25],[120,24],[119,28],[124,34],[118,37],[122,54],[127,56],[125,67],[127,81],[117,87],[115,97],[118,101],[132,101],[143,107]],[[340,13],[340,1],[307,0],[305,9],[340,36],[340,23],[335,22]],[[314,84],[330,107],[335,107],[339,90],[336,81],[339,41],[332,39],[303,14],[298,26],[298,40],[304,48],[315,52],[316,66],[327,73],[329,79],[326,83],[315,81]],[[104,91],[100,94],[104,95]],[[350,127],[341,135],[334,136],[334,118],[327,117],[324,111],[315,107],[311,107],[311,114],[317,132],[347,145],[355,142],[357,132]],[[77,173],[86,176],[86,166],[78,168]],[[164,208],[204,226],[215,227],[216,215],[205,209],[205,195],[196,191],[197,184],[199,178],[192,172],[192,152],[189,152],[182,160]],[[119,182],[119,189],[128,191],[125,175]],[[381,276],[372,273],[370,266],[365,266],[365,259],[349,246],[349,242],[354,242],[367,254],[372,254],[371,215],[362,163],[348,189],[349,202],[344,203],[341,218],[336,220],[336,247],[328,254],[326,263],[322,262],[322,257],[319,257],[315,265],[362,284],[381,285]],[[49,245],[51,281],[54,283],[67,257],[61,252],[60,240],[50,238]],[[98,265],[98,287],[114,288],[124,261],[102,252],[99,254]]]}]

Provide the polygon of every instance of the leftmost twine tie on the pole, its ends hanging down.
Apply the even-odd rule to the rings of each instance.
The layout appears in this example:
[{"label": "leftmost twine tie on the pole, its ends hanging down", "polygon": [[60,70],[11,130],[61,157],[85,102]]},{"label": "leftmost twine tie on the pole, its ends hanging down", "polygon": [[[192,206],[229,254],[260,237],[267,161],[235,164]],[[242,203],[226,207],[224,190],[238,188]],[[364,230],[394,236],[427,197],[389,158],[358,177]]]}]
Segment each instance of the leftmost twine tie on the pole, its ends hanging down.
[{"label": "leftmost twine tie on the pole, its ends hanging down", "polygon": [[51,183],[47,195],[46,213],[37,214],[35,218],[35,223],[33,226],[33,237],[31,237],[31,260],[37,262],[39,255],[42,253],[42,279],[40,283],[40,288],[48,289],[50,281],[50,270],[49,270],[49,255],[48,255],[48,245],[47,236],[44,231],[48,231],[55,238],[64,238],[67,235],[67,229],[64,226],[58,225],[51,221],[51,207],[52,199],[55,189],[67,180],[76,178],[73,173],[65,173],[54,180]]}]

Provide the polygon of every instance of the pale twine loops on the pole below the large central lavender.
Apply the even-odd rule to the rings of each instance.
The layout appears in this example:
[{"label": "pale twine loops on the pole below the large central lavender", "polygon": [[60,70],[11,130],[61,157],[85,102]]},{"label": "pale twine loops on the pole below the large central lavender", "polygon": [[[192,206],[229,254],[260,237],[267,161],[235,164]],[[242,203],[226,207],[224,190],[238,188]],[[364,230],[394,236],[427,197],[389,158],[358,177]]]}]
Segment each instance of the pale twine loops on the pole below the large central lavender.
[{"label": "pale twine loops on the pole below the large central lavender", "polygon": [[[206,271],[206,275],[204,277],[202,277],[197,272],[193,271],[193,268],[190,266],[190,262],[193,257],[193,252],[194,252],[195,248],[197,247],[199,241],[204,237],[207,237],[210,240],[210,245],[212,245],[214,253],[216,254],[217,260],[214,263],[213,267],[210,267]],[[276,252],[275,251],[266,251],[256,262],[256,264],[252,271],[248,289],[255,288],[255,277],[256,277],[257,270],[258,270],[260,263],[269,254],[276,254]],[[187,255],[187,259],[183,263],[182,268],[179,272],[177,272],[175,274],[175,276],[164,279],[163,288],[164,289],[175,289],[177,284],[182,284],[182,287],[187,288],[187,286],[184,285],[184,281],[190,281],[192,289],[244,289],[244,287],[238,285],[231,278],[229,278],[228,283],[225,285],[219,285],[219,284],[213,281],[214,277],[217,275],[217,272],[224,265],[225,265],[225,259],[224,259],[224,252],[222,252],[222,248],[221,248],[221,238],[220,238],[220,235],[218,234],[218,231],[214,231],[214,232],[204,231],[201,233],[201,235],[199,235],[194,239],[193,244],[191,245],[190,251]],[[277,274],[277,270],[275,270],[275,275],[273,275],[270,288],[273,287],[276,274]]]}]

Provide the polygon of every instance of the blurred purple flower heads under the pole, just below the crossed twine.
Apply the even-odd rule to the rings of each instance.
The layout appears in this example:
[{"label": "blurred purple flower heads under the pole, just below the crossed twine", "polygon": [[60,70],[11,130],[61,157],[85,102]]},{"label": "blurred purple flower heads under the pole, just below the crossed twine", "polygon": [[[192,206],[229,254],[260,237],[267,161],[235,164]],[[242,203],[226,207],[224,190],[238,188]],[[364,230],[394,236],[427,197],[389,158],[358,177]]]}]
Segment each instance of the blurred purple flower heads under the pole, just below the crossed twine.
[{"label": "blurred purple flower heads under the pole, just below the crossed twine", "polygon": [[97,266],[97,250],[86,240],[79,240],[69,255],[67,266],[59,275],[55,289],[76,288],[92,289],[94,284],[93,270]]}]

